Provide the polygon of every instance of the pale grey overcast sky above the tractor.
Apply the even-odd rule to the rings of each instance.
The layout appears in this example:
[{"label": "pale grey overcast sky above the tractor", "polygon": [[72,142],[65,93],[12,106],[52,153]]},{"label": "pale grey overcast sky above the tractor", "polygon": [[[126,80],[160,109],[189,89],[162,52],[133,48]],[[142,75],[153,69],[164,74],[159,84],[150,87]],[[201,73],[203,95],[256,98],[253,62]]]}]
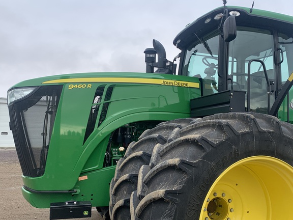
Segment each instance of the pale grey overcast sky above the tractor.
[{"label": "pale grey overcast sky above the tractor", "polygon": [[[255,0],[254,8],[293,15],[289,2]],[[47,75],[144,72],[143,51],[153,39],[172,60],[180,52],[174,37],[222,5],[221,0],[0,0],[0,97],[19,81]]]}]

